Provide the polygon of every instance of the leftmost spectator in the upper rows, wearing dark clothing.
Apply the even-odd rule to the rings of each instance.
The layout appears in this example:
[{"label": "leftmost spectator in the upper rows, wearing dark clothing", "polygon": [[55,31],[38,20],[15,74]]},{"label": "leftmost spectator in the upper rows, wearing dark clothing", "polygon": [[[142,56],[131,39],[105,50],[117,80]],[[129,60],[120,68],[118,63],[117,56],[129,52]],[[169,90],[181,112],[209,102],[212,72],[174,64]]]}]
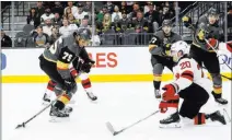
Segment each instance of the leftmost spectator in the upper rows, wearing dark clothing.
[{"label": "leftmost spectator in the upper rows, wearing dark clothing", "polygon": [[30,15],[27,15],[26,18],[26,22],[27,24],[34,25],[35,27],[37,27],[40,24],[40,19],[36,18],[37,13],[35,11],[35,8],[32,8],[30,10]]}]

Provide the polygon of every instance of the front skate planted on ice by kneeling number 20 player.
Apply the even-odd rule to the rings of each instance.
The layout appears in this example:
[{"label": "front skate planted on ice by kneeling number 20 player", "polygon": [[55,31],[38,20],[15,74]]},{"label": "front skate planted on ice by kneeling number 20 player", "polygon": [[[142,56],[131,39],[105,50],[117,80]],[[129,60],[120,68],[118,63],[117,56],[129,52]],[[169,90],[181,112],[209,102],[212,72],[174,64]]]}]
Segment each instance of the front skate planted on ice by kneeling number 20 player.
[{"label": "front skate planted on ice by kneeling number 20 player", "polygon": [[160,128],[181,128],[181,118],[178,112],[172,114],[170,117],[160,120]]}]

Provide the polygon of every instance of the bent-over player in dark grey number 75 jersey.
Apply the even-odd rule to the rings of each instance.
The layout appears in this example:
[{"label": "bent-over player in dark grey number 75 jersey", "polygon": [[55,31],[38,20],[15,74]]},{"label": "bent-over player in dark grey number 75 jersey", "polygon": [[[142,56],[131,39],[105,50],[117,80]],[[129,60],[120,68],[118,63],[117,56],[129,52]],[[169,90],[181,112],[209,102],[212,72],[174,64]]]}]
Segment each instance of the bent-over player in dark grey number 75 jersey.
[{"label": "bent-over player in dark grey number 75 jersey", "polygon": [[50,116],[69,117],[71,108],[66,105],[77,92],[77,83],[71,75],[69,66],[79,57],[90,40],[88,31],[78,31],[68,38],[59,38],[39,56],[40,69],[56,83],[54,88],[58,100],[51,105]]}]

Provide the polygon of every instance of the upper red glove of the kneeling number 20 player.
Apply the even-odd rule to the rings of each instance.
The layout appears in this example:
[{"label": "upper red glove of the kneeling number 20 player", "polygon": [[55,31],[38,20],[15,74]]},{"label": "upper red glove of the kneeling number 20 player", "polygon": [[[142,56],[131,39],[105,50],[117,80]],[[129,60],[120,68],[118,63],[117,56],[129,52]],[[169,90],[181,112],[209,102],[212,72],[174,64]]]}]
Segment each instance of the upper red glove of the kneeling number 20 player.
[{"label": "upper red glove of the kneeling number 20 player", "polygon": [[162,94],[163,101],[176,100],[175,93],[178,90],[177,84],[166,84],[162,88],[165,92]]}]

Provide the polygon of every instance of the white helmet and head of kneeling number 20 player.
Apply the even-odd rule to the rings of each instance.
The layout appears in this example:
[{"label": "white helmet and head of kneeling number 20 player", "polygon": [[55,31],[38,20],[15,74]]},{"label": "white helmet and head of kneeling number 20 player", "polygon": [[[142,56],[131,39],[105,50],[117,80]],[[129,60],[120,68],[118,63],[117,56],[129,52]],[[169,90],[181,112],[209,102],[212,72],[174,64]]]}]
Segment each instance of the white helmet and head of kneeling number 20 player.
[{"label": "white helmet and head of kneeling number 20 player", "polygon": [[171,56],[173,61],[177,62],[184,55],[189,54],[190,46],[184,40],[178,40],[171,46]]}]

